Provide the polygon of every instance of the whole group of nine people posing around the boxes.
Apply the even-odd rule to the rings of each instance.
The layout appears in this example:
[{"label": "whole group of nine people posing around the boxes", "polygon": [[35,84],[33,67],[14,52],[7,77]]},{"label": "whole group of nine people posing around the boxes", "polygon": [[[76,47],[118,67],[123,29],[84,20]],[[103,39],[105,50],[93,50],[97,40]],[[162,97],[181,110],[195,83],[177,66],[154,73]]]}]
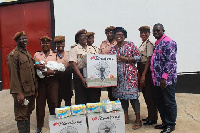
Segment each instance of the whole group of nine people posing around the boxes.
[{"label": "whole group of nine people posing around the boxes", "polygon": [[[107,39],[100,48],[93,46],[93,32],[80,30],[75,35],[76,44],[69,52],[64,50],[65,37],[56,36],[54,42],[56,50],[50,49],[52,39],[48,36],[40,38],[42,51],[36,52],[34,57],[26,50],[27,37],[25,32],[18,32],[14,36],[17,46],[7,56],[10,75],[10,92],[14,98],[15,120],[20,133],[30,132],[30,115],[35,107],[37,129],[42,132],[45,117],[46,101],[50,115],[55,115],[55,108],[71,105],[72,72],[75,89],[75,104],[100,102],[101,88],[87,88],[87,81],[83,77],[83,58],[87,54],[113,54],[117,56],[117,87],[107,87],[111,101],[119,99],[128,124],[129,102],[134,109],[136,120],[133,129],[142,126],[140,118],[140,102],[138,91],[142,93],[147,105],[148,116],[143,125],[157,124],[157,110],[162,124],[156,129],[163,129],[161,133],[170,133],[175,129],[177,107],[175,100],[176,74],[176,42],[164,34],[162,24],[155,24],[153,36],[155,44],[149,40],[150,27],[139,28],[142,44],[139,48],[131,41],[125,41],[127,31],[123,27],[109,26],[105,29]],[[63,63],[66,70],[59,72],[45,67],[48,61]],[[44,63],[41,63],[44,62]],[[136,66],[137,64],[137,66]],[[45,76],[39,78],[35,74],[40,70]],[[25,102],[28,100],[28,105]]]}]

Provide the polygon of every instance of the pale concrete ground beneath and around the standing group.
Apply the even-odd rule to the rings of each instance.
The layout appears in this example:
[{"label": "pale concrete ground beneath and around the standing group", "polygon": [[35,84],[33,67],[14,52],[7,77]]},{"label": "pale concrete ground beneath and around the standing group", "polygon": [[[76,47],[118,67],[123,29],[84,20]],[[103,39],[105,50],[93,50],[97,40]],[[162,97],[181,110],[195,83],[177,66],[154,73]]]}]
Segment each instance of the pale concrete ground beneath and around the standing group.
[{"label": "pale concrete ground beneath and around the standing group", "polygon": [[[107,92],[102,91],[101,100],[107,99]],[[147,109],[142,93],[140,93],[141,118],[147,117]],[[177,125],[174,133],[200,133],[200,94],[176,94],[178,116]],[[74,103],[74,97],[72,98]],[[43,133],[49,133],[48,126],[48,107],[46,107],[46,117]],[[142,126],[138,130],[132,130],[135,121],[134,111],[129,107],[130,124],[126,125],[126,133],[160,133],[161,130],[154,129],[153,126]],[[161,123],[159,118],[158,123]],[[31,115],[31,133],[36,129],[36,112]],[[17,125],[14,120],[13,98],[9,90],[0,91],[0,133],[17,133]]]}]

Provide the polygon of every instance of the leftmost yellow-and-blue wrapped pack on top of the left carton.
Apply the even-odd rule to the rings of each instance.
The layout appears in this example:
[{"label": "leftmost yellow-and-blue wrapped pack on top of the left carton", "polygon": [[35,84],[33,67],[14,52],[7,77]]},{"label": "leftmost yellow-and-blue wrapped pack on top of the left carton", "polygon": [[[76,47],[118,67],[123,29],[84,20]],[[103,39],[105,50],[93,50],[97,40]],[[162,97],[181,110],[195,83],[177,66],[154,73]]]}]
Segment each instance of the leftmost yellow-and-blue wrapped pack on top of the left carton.
[{"label": "leftmost yellow-and-blue wrapped pack on top of the left carton", "polygon": [[55,108],[56,118],[62,119],[71,116],[71,107],[65,106],[61,108]]}]

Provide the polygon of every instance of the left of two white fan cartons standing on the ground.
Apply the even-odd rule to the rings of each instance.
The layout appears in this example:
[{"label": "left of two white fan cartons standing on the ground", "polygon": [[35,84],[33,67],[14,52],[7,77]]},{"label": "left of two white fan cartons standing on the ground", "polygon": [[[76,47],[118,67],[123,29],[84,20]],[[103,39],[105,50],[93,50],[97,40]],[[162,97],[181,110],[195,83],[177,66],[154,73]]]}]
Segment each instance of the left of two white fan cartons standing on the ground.
[{"label": "left of two white fan cartons standing on the ground", "polygon": [[87,133],[86,116],[71,116],[57,119],[49,115],[50,133]]}]

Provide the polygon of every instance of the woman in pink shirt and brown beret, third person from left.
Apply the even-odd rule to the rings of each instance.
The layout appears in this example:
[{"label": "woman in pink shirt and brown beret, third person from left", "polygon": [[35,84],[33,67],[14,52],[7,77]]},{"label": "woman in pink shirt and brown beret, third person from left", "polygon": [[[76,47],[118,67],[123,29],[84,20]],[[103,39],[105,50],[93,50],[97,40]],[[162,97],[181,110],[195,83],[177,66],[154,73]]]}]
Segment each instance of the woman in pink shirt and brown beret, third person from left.
[{"label": "woman in pink shirt and brown beret, third person from left", "polygon": [[68,51],[64,51],[65,48],[65,36],[56,36],[54,42],[57,47],[56,61],[62,63],[66,70],[58,73],[58,108],[61,107],[62,99],[65,100],[65,106],[71,106],[71,98],[73,95],[71,81],[72,81],[72,69],[68,62]]}]

